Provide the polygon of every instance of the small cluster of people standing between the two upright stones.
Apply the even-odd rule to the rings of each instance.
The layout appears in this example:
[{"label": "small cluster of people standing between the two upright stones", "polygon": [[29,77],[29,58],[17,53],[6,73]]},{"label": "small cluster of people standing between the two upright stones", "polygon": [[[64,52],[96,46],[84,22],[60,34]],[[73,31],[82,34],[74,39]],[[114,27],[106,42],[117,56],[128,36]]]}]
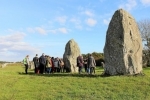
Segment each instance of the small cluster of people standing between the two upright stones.
[{"label": "small cluster of people standing between the two upright stones", "polygon": [[79,74],[82,73],[82,69],[85,69],[85,72],[88,74],[95,74],[96,62],[94,57],[91,54],[88,54],[88,57],[83,59],[82,55],[77,57],[77,66],[79,67]]}]

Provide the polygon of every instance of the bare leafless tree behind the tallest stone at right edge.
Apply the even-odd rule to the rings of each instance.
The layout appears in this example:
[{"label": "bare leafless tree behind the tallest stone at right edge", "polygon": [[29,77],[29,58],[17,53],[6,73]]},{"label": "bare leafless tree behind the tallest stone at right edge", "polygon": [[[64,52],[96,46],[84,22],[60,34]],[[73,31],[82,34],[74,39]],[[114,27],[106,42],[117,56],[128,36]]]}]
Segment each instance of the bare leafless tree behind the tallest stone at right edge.
[{"label": "bare leafless tree behind the tallest stone at right edge", "polygon": [[147,66],[150,65],[150,19],[139,21],[138,28],[144,44],[143,66]]}]

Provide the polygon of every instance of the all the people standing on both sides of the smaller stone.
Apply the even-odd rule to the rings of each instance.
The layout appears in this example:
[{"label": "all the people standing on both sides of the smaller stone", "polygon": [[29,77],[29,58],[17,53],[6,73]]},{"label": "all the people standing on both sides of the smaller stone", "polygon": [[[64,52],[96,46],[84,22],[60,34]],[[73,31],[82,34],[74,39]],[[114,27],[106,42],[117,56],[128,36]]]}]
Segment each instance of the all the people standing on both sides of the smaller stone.
[{"label": "all the people standing on both sides of the smaller stone", "polygon": [[[34,73],[37,74],[45,74],[45,73],[54,73],[54,72],[64,72],[64,62],[63,59],[60,59],[58,57],[50,57],[49,55],[44,55],[44,53],[38,57],[38,54],[33,58],[34,62]],[[27,55],[23,59],[23,63],[25,65],[25,73],[28,73],[28,67],[29,67],[29,55]],[[95,74],[95,67],[96,62],[94,57],[91,54],[88,54],[88,57],[83,59],[82,55],[79,55],[77,57],[77,67],[78,72],[81,74],[83,72],[83,68],[85,69],[85,72],[88,74]]]}]

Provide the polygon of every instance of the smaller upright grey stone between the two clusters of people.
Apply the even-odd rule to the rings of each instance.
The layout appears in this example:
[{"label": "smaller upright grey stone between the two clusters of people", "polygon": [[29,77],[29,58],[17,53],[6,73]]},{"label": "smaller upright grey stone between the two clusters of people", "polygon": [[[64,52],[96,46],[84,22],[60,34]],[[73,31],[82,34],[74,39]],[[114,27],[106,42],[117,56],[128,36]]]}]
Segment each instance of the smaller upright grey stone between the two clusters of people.
[{"label": "smaller upright grey stone between the two clusters of people", "polygon": [[69,40],[63,55],[64,66],[67,72],[78,72],[77,57],[80,55],[80,48],[73,40]]}]

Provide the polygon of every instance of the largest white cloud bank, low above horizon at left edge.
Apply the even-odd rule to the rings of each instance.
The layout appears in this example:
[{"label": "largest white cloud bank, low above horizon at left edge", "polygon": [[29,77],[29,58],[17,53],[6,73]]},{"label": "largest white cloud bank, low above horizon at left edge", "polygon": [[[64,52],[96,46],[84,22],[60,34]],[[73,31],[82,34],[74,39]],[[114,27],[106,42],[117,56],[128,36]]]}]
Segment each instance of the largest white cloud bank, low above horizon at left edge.
[{"label": "largest white cloud bank, low above horizon at left edge", "polygon": [[[15,32],[15,31],[12,31]],[[20,61],[25,55],[40,52],[37,47],[23,41],[25,33],[16,31],[0,37],[0,61]]]}]

